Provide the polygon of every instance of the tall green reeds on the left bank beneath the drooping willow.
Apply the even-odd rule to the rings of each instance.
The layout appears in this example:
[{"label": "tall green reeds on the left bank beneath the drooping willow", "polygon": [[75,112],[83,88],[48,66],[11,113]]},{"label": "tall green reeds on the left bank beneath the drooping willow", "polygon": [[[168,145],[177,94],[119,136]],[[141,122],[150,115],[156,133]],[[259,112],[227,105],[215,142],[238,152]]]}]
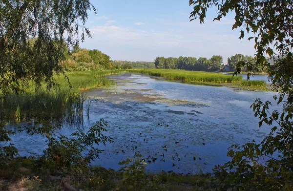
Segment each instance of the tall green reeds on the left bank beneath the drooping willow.
[{"label": "tall green reeds on the left bank beneath the drooping willow", "polygon": [[36,89],[35,85],[23,88],[23,93],[0,94],[1,116],[10,122],[21,122],[36,116],[47,120],[75,122],[82,120],[85,95],[81,90],[105,85],[113,85],[109,79],[97,77],[95,72],[83,71],[66,74],[69,78],[56,76],[60,87],[47,90],[45,85]]}]

